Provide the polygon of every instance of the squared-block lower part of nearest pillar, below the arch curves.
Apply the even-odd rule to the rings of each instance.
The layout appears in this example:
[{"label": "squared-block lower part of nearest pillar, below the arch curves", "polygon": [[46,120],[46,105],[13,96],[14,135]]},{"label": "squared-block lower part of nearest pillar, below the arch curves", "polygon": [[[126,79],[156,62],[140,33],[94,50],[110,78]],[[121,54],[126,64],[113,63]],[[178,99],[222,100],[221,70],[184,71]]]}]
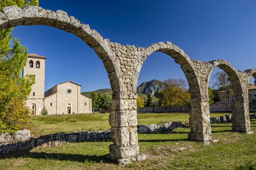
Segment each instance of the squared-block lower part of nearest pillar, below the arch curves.
[{"label": "squared-block lower part of nearest pillar, below the arch curves", "polygon": [[113,144],[109,145],[110,158],[119,164],[145,159],[145,155],[139,154],[137,94],[118,92],[112,97],[109,124]]}]

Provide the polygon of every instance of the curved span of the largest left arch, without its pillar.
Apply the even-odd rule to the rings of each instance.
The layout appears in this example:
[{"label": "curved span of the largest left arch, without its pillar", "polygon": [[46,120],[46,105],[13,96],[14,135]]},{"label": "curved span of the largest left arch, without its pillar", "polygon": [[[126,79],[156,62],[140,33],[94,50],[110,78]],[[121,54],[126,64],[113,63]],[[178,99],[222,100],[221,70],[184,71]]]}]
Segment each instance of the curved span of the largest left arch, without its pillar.
[{"label": "curved span of the largest left arch, without its pillar", "polygon": [[90,29],[65,11],[45,10],[39,6],[7,6],[0,12],[0,31],[17,25],[47,25],[74,34],[89,45],[102,60],[113,90],[119,91],[116,75],[115,54],[111,50],[109,39],[103,39],[99,32]]}]

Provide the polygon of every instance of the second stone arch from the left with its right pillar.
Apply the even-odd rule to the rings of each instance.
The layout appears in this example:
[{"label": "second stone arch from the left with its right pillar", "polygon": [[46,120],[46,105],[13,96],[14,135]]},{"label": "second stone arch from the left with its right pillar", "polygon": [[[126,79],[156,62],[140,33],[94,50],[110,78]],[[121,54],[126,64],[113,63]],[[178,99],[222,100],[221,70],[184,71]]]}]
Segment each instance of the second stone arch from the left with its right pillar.
[{"label": "second stone arch from the left with its right pillar", "polygon": [[132,92],[136,93],[138,76],[141,67],[147,57],[153,52],[163,52],[175,59],[180,65],[189,84],[189,92],[191,94],[191,107],[189,111],[189,139],[195,141],[203,141],[209,143],[211,139],[211,124],[209,114],[209,103],[202,94],[200,87],[200,79],[196,71],[195,64],[178,46],[170,42],[160,42],[146,48],[140,48],[141,52],[137,53],[138,57],[134,65],[134,73],[132,74]]}]

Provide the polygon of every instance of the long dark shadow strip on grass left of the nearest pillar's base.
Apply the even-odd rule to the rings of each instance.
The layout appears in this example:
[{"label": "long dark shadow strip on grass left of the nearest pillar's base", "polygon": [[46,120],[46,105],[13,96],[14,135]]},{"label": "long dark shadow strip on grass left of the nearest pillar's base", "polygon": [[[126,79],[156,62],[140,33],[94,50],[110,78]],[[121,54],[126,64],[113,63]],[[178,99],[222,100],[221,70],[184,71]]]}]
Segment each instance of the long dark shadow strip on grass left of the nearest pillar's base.
[{"label": "long dark shadow strip on grass left of the nearest pillar's base", "polygon": [[103,162],[111,163],[107,158],[108,155],[81,155],[81,154],[67,154],[67,153],[45,153],[45,152],[17,152],[17,153],[8,153],[6,155],[0,155],[0,159],[9,159],[9,158],[32,158],[32,159],[54,159],[54,160],[69,160],[73,162]]}]

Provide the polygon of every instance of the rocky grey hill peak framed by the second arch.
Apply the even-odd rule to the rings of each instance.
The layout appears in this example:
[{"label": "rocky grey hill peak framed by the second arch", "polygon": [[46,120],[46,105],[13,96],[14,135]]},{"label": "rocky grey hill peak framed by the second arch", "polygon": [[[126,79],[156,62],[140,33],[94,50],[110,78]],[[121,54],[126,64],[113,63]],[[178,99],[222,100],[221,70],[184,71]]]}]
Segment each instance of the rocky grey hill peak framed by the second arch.
[{"label": "rocky grey hill peak framed by the second arch", "polygon": [[155,96],[156,92],[163,91],[168,86],[167,83],[159,80],[145,81],[137,87],[138,94],[151,94]]}]

